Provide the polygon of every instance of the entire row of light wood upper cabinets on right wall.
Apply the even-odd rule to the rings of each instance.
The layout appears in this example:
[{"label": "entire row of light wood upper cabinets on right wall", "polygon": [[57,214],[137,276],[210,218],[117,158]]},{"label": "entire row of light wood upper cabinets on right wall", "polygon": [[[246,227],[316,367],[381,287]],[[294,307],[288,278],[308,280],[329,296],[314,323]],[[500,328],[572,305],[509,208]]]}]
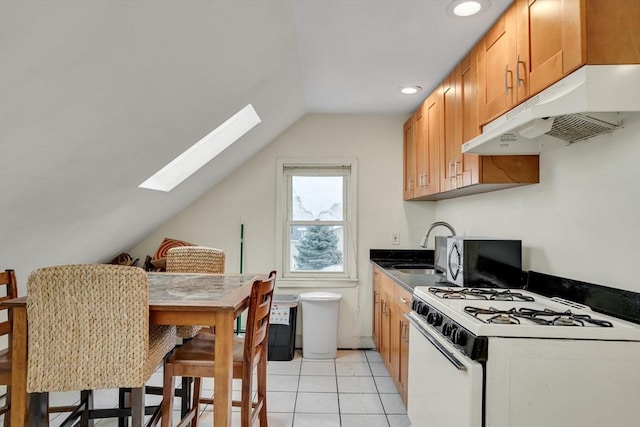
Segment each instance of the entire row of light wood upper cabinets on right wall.
[{"label": "entire row of light wood upper cabinets on right wall", "polygon": [[[439,200],[539,182],[538,156],[462,154],[482,126],[584,64],[640,63],[640,0],[515,0],[405,125],[413,194]],[[408,162],[408,163],[407,163]]]}]

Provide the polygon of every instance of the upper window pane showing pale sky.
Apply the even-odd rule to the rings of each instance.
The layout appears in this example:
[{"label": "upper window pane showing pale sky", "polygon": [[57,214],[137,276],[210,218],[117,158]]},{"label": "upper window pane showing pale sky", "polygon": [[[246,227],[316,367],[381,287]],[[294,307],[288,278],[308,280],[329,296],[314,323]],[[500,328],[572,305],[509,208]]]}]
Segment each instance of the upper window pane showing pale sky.
[{"label": "upper window pane showing pale sky", "polygon": [[342,221],[342,176],[292,176],[291,219]]}]

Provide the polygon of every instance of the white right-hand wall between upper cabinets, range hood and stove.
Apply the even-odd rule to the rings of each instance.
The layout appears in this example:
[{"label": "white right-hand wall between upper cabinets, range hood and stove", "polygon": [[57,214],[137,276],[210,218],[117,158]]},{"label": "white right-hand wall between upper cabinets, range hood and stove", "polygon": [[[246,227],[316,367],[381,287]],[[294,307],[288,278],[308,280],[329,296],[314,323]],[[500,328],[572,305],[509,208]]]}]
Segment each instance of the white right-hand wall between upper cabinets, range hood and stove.
[{"label": "white right-hand wall between upper cabinets, range hood and stove", "polygon": [[540,157],[540,184],[440,201],[459,234],[522,239],[527,270],[640,292],[640,115]]}]

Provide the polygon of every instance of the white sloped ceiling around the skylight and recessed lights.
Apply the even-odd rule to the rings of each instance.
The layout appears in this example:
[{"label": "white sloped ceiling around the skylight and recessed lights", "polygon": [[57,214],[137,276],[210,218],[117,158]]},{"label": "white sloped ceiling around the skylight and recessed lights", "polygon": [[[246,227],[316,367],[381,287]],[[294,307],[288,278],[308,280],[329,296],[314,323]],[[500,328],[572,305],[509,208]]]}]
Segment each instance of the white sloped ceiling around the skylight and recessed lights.
[{"label": "white sloped ceiling around the skylight and recessed lights", "polygon": [[[0,2],[0,268],[110,259],[305,113],[410,113],[510,0],[448,3]],[[218,158],[137,188],[249,103],[262,123]]]}]

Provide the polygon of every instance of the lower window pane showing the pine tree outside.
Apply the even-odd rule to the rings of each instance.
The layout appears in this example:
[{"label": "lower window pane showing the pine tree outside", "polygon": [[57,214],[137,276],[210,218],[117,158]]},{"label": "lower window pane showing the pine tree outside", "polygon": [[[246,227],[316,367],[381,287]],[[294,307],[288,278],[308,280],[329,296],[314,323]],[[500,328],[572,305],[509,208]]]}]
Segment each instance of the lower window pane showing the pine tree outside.
[{"label": "lower window pane showing the pine tree outside", "polygon": [[344,227],[291,226],[291,271],[344,271]]}]

